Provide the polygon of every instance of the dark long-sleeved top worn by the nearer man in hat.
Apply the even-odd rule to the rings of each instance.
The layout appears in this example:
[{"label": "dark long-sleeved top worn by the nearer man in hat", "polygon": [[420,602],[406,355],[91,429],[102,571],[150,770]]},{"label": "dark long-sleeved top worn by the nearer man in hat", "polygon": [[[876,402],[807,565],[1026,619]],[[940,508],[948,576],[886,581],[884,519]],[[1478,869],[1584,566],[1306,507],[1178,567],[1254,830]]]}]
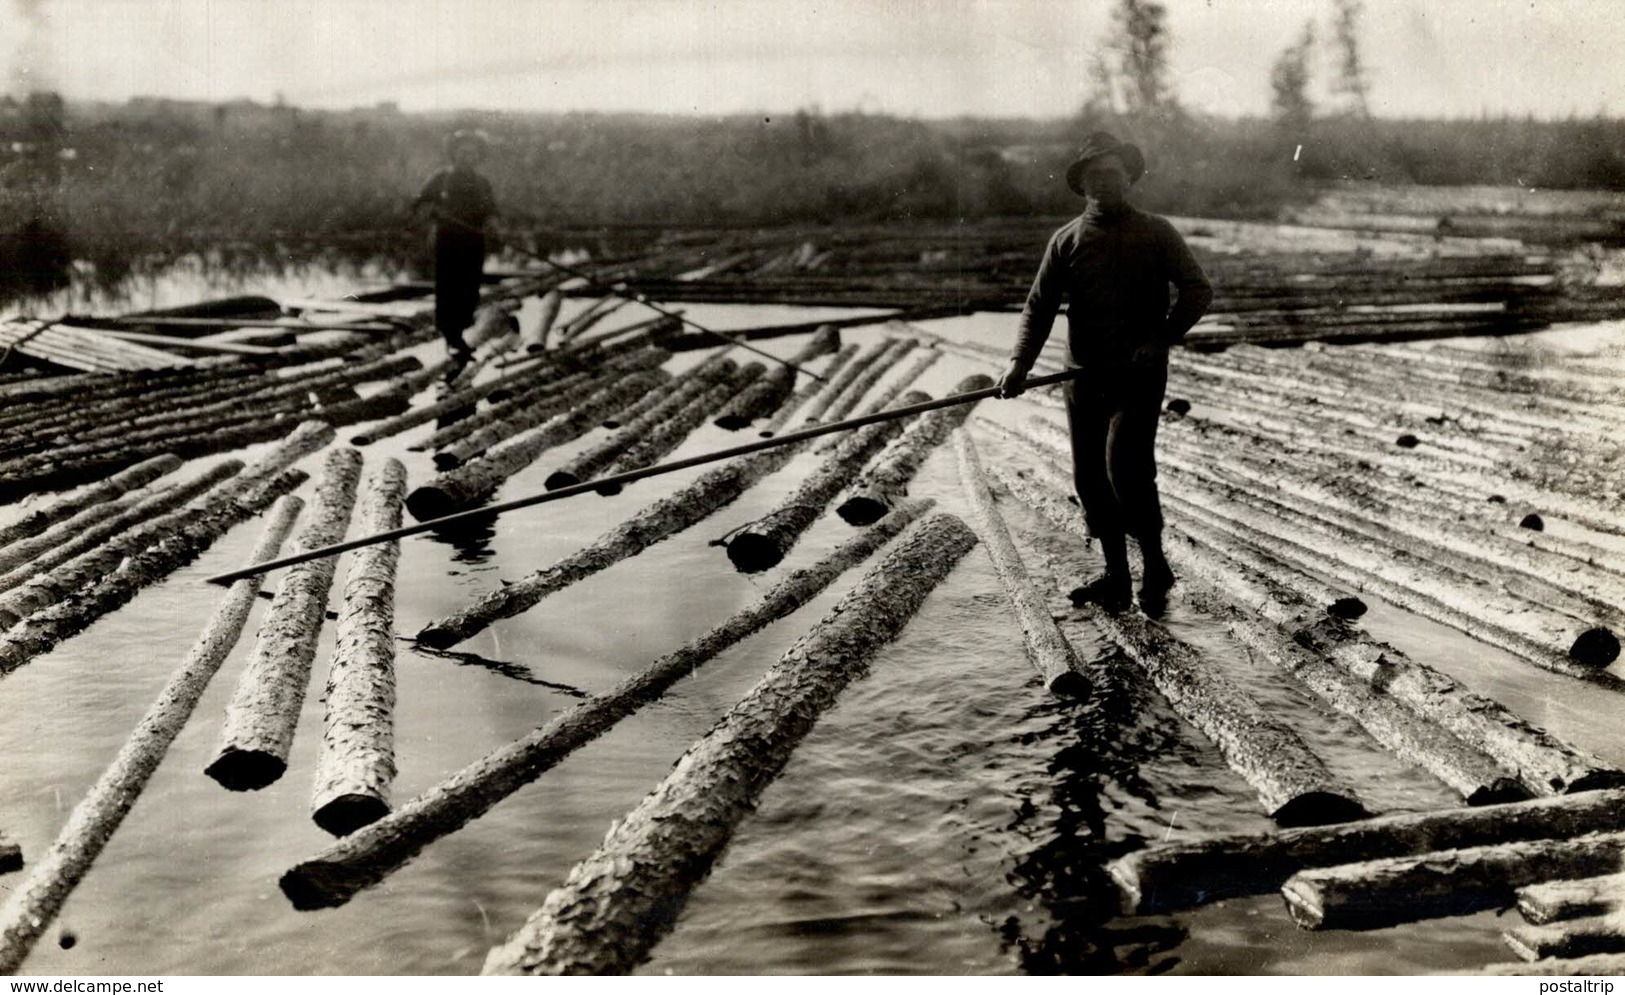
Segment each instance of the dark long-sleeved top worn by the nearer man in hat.
[{"label": "dark long-sleeved top worn by the nearer man in hat", "polygon": [[[1168,285],[1178,291],[1172,311]],[[1183,338],[1212,302],[1212,286],[1173,224],[1124,206],[1084,211],[1050,237],[1012,359],[1032,367],[1063,299],[1068,364],[1112,367],[1142,345]]]}]

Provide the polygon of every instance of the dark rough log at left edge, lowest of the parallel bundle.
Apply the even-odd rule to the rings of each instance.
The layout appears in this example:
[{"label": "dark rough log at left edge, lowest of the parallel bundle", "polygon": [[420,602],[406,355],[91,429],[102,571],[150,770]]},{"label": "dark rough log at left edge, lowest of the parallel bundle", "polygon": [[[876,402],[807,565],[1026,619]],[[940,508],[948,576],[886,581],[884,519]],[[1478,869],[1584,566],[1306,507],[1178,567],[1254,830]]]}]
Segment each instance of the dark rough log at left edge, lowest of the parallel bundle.
[{"label": "dark rough log at left edge, lowest of the parallel bundle", "polygon": [[[132,554],[117,571],[96,580],[67,602],[29,615],[0,634],[0,675],[10,673],[63,639],[76,636],[98,618],[127,605],[143,587],[156,584],[197,559],[232,525],[244,522],[309,478],[284,470],[244,488],[242,480],[214,491],[197,507],[171,512],[148,524],[154,545]],[[236,486],[234,486],[236,484]]]}]

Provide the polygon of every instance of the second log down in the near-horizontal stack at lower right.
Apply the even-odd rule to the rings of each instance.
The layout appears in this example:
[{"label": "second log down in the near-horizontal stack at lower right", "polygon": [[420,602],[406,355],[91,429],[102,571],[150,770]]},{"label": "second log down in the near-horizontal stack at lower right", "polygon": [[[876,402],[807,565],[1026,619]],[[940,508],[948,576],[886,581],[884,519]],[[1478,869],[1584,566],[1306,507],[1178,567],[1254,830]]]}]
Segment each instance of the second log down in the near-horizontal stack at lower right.
[{"label": "second log down in the near-horizontal stack at lower right", "polygon": [[1592,832],[1341,863],[1292,875],[1280,894],[1306,930],[1372,930],[1510,906],[1536,881],[1614,873],[1622,847],[1625,832]]}]

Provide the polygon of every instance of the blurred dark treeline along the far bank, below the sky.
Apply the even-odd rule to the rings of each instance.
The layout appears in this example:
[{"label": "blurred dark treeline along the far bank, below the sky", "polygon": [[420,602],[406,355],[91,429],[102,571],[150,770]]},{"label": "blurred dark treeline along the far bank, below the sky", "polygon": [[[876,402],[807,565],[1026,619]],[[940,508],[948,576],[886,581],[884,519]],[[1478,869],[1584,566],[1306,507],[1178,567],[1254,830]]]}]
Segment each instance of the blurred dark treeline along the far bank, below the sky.
[{"label": "blurred dark treeline along the far bank, below the sky", "polygon": [[[3,130],[0,122],[0,130]],[[496,141],[486,172],[514,228],[765,226],[1068,215],[1061,182],[1094,127],[1150,156],[1150,210],[1269,218],[1339,179],[1625,190],[1625,120],[946,120],[873,114],[427,117],[388,107],[68,106],[49,189],[0,159],[0,229],[44,210],[76,259],[198,249],[408,259],[406,205],[453,127]],[[0,133],[0,150],[15,137]],[[41,150],[36,150],[36,154]],[[6,153],[0,151],[0,156]],[[18,179],[23,176],[23,179]]]}]

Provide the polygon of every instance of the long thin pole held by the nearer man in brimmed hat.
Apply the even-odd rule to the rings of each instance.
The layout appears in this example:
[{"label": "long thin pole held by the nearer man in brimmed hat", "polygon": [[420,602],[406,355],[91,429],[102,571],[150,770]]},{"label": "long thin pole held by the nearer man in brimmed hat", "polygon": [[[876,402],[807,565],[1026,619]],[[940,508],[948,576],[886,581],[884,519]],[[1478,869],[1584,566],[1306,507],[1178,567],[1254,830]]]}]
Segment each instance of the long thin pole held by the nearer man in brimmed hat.
[{"label": "long thin pole held by the nearer man in brimmed hat", "polygon": [[[1032,377],[1022,389],[1030,390],[1034,387],[1050,387],[1055,384],[1064,384],[1068,380],[1076,380],[1082,371],[1069,369],[1058,374],[1048,374],[1043,377]],[[270,563],[262,563],[250,567],[242,567],[239,571],[229,571],[224,574],[216,574],[208,579],[210,584],[232,584],[244,577],[252,577],[255,574],[266,574],[286,566],[294,566],[297,563],[309,563],[312,559],[322,559],[323,556],[338,556],[340,553],[348,553],[349,550],[359,550],[362,546],[370,546],[374,543],[387,543],[390,540],[406,538],[408,535],[419,535],[422,532],[434,532],[444,528],[445,525],[455,522],[468,522],[473,519],[486,519],[491,515],[499,515],[510,511],[518,511],[522,507],[530,507],[533,504],[546,504],[549,501],[562,501],[564,498],[574,498],[577,494],[595,493],[606,484],[627,484],[634,480],[645,480],[650,476],[660,476],[661,473],[673,473],[676,470],[687,470],[689,467],[699,467],[704,463],[715,463],[718,460],[731,460],[733,457],[746,455],[751,452],[760,452],[764,449],[774,449],[777,445],[793,445],[804,439],[816,439],[819,436],[829,436],[832,432],[843,432],[855,428],[863,428],[866,424],[876,424],[879,421],[895,421],[899,418],[912,418],[915,415],[923,415],[925,411],[936,411],[938,408],[952,408],[956,405],[968,405],[990,397],[998,397],[998,385],[983,387],[982,390],[967,390],[965,393],[951,393],[949,397],[920,402],[916,405],[904,405],[900,408],[887,408],[884,411],[876,411],[873,415],[860,415],[858,418],[848,418],[845,421],[832,421],[829,424],[811,424],[804,429],[793,432],[785,432],[783,436],[774,436],[772,439],[757,439],[756,442],[744,442],[730,449],[718,449],[717,452],[702,452],[699,455],[684,457],[681,460],[671,460],[666,463],[656,463],[653,467],[642,467],[639,470],[627,470],[626,473],[616,473],[613,476],[603,476],[598,480],[588,480],[585,483],[572,484],[569,488],[559,488],[557,491],[544,491],[541,494],[530,494],[528,498],[515,498],[514,501],[504,501],[500,504],[488,504],[484,507],[476,507],[465,512],[457,512],[452,515],[444,515],[439,519],[429,519],[426,522],[418,522],[416,525],[405,525],[401,528],[392,528],[388,532],[380,532],[377,535],[364,535],[359,538],[346,540],[343,543],[333,543],[330,546],[320,546],[317,550],[309,550],[306,553],[297,553],[294,556],[284,556],[281,559],[273,559]]]}]

